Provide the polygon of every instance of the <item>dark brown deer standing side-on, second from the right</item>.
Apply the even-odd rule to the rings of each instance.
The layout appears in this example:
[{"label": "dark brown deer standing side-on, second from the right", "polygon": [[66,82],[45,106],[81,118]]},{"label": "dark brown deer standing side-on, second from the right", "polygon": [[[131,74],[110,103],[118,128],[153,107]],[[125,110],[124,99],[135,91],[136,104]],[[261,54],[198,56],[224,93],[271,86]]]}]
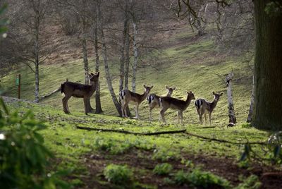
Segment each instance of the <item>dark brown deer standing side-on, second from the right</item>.
[{"label": "dark brown deer standing side-on, second from the right", "polygon": [[181,118],[181,125],[183,125],[183,111],[185,111],[185,109],[188,108],[192,99],[195,99],[195,96],[192,93],[192,91],[187,92],[186,101],[181,99],[176,99],[173,97],[161,97],[159,99],[159,102],[161,104],[161,111],[159,111],[159,114],[162,118],[162,121],[166,123],[166,120],[164,118],[164,112],[166,112],[167,109],[171,108],[178,112],[178,123],[179,123],[179,118]]}]

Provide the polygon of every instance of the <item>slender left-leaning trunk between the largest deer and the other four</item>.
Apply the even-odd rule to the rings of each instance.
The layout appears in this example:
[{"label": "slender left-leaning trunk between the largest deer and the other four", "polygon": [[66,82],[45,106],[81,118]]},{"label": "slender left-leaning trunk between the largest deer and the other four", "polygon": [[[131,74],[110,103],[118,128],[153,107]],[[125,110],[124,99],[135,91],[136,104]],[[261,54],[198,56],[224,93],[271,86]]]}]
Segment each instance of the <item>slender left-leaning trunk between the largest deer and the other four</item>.
[{"label": "slender left-leaning trunk between the largest deer and the other four", "polygon": [[104,38],[104,31],[102,28],[102,19],[101,19],[101,9],[100,9],[100,4],[97,6],[98,10],[98,20],[99,20],[99,30],[101,33],[101,39],[102,39],[102,56],[104,59],[104,65],[105,65],[105,75],[106,75],[106,83],[108,84],[109,91],[111,93],[111,97],[113,99],[114,105],[116,106],[116,110],[118,111],[118,114],[121,116],[121,104],[118,103],[118,99],[116,99],[116,94],[114,92],[114,88],[111,85],[111,75],[109,73],[109,64],[108,64],[108,56],[106,52],[106,43],[105,43],[105,38]]}]

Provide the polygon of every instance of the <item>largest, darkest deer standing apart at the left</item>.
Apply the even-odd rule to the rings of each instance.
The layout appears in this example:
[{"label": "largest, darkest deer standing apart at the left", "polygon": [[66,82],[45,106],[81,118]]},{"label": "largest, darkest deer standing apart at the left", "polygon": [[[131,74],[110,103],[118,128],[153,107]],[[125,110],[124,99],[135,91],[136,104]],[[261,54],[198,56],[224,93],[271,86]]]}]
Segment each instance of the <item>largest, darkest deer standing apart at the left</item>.
[{"label": "largest, darkest deer standing apart at the left", "polygon": [[71,97],[83,98],[85,114],[87,115],[87,113],[90,112],[90,97],[96,90],[99,81],[99,72],[95,74],[87,74],[90,78],[90,85],[73,83],[69,81],[61,84],[61,93],[65,94],[65,97],[63,97],[62,99],[63,111],[66,114],[70,114],[70,111],[68,109],[68,99],[70,99]]}]

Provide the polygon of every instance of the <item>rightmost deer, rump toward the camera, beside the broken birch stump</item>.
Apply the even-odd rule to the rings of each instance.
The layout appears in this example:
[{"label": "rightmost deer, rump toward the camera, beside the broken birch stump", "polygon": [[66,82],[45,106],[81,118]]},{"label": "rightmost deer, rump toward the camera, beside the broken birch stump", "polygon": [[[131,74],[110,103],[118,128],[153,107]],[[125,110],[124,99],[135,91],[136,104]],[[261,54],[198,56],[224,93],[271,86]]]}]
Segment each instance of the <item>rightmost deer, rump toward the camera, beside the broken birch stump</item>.
[{"label": "rightmost deer, rump toward the camera, beside the broken birch stump", "polygon": [[220,94],[212,92],[214,94],[214,101],[213,102],[207,102],[206,99],[197,99],[195,101],[195,107],[197,109],[197,113],[200,118],[200,124],[202,124],[202,116],[204,115],[204,120],[207,123],[207,114],[209,114],[209,125],[211,125],[211,119],[212,119],[212,111],[214,111],[217,102],[219,102],[219,98],[222,96],[223,92]]}]

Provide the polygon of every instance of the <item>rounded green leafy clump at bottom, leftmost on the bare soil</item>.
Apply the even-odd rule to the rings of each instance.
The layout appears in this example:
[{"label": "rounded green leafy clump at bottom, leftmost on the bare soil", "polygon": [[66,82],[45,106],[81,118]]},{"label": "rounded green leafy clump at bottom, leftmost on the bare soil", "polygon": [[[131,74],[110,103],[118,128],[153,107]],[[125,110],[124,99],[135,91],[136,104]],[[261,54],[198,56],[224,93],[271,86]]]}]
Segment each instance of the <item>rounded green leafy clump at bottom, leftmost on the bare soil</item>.
[{"label": "rounded green leafy clump at bottom, leftmost on the bare soil", "polygon": [[133,171],[126,165],[109,164],[104,169],[104,176],[109,182],[118,185],[133,183]]}]

